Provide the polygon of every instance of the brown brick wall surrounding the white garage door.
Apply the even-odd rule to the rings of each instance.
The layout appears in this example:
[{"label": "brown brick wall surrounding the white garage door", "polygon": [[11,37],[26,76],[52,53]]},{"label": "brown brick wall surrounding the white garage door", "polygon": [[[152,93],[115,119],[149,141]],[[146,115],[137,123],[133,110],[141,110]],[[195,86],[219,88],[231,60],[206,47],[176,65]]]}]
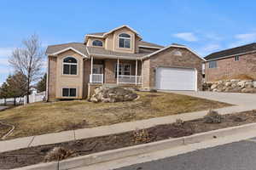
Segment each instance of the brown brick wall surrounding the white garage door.
[{"label": "brown brick wall surrounding the white garage door", "polygon": [[[174,55],[180,51],[182,56]],[[185,48],[168,48],[143,61],[143,88],[155,88],[155,70],[159,66],[195,68],[197,70],[198,88],[202,89],[203,60]]]}]

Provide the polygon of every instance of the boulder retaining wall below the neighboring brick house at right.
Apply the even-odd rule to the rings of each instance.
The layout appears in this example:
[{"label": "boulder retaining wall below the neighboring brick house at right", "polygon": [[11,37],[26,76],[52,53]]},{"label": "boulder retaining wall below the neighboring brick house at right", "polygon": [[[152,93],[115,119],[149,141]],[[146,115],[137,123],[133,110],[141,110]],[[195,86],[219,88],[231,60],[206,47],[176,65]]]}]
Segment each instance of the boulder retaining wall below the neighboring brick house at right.
[{"label": "boulder retaining wall below the neighboring brick house at right", "polygon": [[212,92],[256,93],[256,81],[232,79],[205,82],[203,90]]}]

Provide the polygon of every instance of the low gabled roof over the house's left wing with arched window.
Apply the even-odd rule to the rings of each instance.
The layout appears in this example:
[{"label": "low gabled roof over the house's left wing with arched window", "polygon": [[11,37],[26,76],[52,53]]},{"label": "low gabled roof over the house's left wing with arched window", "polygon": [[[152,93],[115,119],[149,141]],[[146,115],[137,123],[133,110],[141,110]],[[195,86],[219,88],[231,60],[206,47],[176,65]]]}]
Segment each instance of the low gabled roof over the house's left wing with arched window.
[{"label": "low gabled roof over the house's left wing with arched window", "polygon": [[86,51],[86,46],[81,42],[70,42],[70,43],[62,43],[58,45],[50,45],[46,49],[47,55],[57,55],[61,54],[67,50],[73,50],[74,52],[81,54],[85,58],[89,58],[89,55]]}]

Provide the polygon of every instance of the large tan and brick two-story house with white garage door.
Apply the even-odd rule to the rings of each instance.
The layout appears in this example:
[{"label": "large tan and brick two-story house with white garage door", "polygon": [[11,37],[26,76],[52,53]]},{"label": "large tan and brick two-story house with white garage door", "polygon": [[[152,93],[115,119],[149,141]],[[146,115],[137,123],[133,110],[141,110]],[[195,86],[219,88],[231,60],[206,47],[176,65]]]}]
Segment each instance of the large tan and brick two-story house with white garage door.
[{"label": "large tan and brick two-story house with white garage door", "polygon": [[46,54],[48,100],[85,99],[102,85],[166,90],[202,88],[204,59],[183,45],[165,48],[144,42],[129,26],[87,34],[83,43],[49,46]]}]

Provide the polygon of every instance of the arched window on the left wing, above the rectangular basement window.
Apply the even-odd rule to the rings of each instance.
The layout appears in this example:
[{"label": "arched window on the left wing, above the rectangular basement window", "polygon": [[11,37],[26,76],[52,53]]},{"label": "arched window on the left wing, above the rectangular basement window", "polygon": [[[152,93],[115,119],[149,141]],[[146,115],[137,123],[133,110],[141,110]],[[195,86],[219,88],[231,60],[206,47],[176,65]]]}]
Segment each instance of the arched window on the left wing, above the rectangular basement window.
[{"label": "arched window on the left wing, above the rectangular basement window", "polygon": [[73,57],[63,59],[63,74],[64,75],[77,75],[78,61]]}]

